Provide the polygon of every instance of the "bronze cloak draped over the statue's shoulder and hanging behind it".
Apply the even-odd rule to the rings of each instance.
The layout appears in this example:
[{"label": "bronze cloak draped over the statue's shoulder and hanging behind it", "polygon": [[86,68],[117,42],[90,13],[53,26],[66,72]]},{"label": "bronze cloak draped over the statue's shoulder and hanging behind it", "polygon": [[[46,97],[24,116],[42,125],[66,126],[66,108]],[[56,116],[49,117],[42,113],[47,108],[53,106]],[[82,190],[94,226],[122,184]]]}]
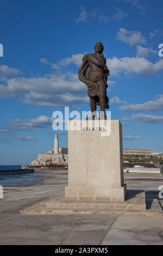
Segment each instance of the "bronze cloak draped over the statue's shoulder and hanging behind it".
[{"label": "bronze cloak draped over the statue's shoulder and hanging behind it", "polygon": [[[79,80],[82,81],[83,83],[86,84],[87,86],[87,94],[89,97],[96,97],[96,105],[99,105],[99,91],[98,91],[98,84],[97,83],[92,83],[91,81],[89,81],[89,75],[91,72],[88,60],[87,60],[87,56],[88,54],[85,54],[85,56],[83,57],[83,63],[80,66],[79,72],[78,72],[78,76],[79,76]],[[107,81],[107,76],[105,76],[105,84]],[[108,85],[106,84],[106,88],[108,87]],[[108,109],[109,108],[109,99],[108,96],[105,94],[105,108]]]}]

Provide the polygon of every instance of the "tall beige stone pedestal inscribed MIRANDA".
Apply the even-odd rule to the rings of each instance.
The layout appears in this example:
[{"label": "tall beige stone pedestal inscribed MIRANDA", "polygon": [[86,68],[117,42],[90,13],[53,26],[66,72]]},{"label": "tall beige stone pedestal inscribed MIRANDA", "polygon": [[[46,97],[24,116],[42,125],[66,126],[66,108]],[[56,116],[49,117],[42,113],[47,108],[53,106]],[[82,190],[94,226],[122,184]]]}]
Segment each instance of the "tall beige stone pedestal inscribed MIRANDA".
[{"label": "tall beige stone pedestal inscribed MIRANDA", "polygon": [[[100,123],[99,123],[100,122]],[[68,187],[65,198],[117,200],[123,181],[122,125],[119,120],[72,120],[68,131]],[[72,130],[77,126],[78,130]]]}]

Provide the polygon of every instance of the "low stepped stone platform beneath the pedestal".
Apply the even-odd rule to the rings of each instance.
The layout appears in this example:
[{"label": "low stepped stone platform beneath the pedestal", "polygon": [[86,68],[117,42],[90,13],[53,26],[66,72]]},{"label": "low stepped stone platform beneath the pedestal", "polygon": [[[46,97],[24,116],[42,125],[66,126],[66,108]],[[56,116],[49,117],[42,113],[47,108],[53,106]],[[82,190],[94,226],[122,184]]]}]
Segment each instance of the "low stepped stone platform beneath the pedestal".
[{"label": "low stepped stone platform beneath the pedestal", "polygon": [[64,197],[51,197],[49,200],[21,210],[24,215],[128,215],[163,217],[157,200],[151,209],[146,210],[145,192],[127,191],[126,201],[84,201],[65,200]]}]

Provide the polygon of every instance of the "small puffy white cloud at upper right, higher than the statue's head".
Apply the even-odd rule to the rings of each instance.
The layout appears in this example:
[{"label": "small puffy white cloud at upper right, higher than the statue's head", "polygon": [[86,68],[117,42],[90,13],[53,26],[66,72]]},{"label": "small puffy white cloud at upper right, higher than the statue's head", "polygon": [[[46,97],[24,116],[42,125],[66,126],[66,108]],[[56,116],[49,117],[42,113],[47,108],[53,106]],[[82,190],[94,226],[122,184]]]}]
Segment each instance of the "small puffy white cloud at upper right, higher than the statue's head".
[{"label": "small puffy white cloud at upper right, higher than the statue's head", "polygon": [[120,31],[117,32],[117,40],[125,42],[130,46],[147,44],[146,38],[142,36],[140,31],[127,31],[125,28],[120,28]]}]

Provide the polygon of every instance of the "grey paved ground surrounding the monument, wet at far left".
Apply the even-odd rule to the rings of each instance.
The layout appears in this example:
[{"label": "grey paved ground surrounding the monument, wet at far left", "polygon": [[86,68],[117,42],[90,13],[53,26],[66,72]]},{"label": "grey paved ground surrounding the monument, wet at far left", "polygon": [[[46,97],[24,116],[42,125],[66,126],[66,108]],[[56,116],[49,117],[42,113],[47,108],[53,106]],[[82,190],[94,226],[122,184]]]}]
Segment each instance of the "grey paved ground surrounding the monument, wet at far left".
[{"label": "grey paved ground surrounding the monument, wet at far left", "polygon": [[[124,178],[128,189],[145,190],[148,197],[159,199],[161,174],[125,173]],[[54,193],[64,193],[65,170],[5,177],[0,185],[1,245],[163,245],[162,217],[19,214]]]}]

